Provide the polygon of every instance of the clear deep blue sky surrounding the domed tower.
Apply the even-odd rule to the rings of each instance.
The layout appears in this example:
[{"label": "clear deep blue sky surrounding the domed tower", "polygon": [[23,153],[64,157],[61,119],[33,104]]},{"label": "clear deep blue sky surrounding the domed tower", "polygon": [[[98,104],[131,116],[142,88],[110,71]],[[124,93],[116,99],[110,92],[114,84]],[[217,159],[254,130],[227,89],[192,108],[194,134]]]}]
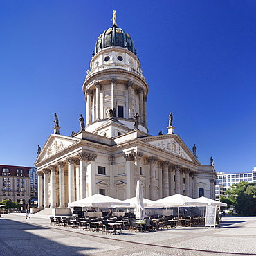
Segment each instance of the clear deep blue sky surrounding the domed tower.
[{"label": "clear deep blue sky surrounding the domed tower", "polygon": [[53,132],[78,131],[82,84],[100,33],[134,40],[149,84],[149,134],[168,115],[202,165],[256,167],[256,1],[0,1],[0,163],[32,167]]}]

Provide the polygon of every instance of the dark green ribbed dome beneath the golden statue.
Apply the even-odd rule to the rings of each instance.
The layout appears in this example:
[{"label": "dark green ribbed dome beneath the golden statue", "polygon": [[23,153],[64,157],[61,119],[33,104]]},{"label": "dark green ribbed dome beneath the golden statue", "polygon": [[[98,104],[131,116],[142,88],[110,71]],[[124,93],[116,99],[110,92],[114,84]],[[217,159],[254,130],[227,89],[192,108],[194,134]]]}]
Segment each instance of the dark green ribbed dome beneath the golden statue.
[{"label": "dark green ribbed dome beneath the golden statue", "polygon": [[104,32],[100,34],[95,44],[95,53],[109,46],[120,46],[128,49],[135,55],[137,54],[134,48],[134,42],[131,40],[129,34],[116,25],[104,30]]}]

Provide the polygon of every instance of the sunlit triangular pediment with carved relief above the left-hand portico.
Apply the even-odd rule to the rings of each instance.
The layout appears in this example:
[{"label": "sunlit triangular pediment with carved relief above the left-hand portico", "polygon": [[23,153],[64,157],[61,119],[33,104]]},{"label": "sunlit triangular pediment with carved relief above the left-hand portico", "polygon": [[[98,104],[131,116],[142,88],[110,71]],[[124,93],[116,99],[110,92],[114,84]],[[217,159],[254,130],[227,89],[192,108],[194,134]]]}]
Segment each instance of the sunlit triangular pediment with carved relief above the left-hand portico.
[{"label": "sunlit triangular pediment with carved relief above the left-hand portico", "polygon": [[72,138],[69,136],[62,136],[59,134],[51,134],[51,136],[46,141],[42,152],[37,157],[36,163],[43,161],[44,159],[53,156],[58,152],[62,152],[66,147],[69,147],[77,142],[80,139]]}]

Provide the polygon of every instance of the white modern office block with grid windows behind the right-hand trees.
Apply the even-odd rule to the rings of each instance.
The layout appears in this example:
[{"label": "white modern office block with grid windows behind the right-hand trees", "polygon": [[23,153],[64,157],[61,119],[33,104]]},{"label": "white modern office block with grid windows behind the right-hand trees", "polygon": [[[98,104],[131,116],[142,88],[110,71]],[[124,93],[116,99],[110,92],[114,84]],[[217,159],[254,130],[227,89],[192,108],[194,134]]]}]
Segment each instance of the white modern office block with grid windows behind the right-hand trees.
[{"label": "white modern office block with grid windows behind the right-hand trees", "polygon": [[238,174],[218,173],[215,186],[215,199],[219,201],[220,196],[223,196],[227,188],[241,181],[256,182],[256,167],[251,172],[240,172]]}]

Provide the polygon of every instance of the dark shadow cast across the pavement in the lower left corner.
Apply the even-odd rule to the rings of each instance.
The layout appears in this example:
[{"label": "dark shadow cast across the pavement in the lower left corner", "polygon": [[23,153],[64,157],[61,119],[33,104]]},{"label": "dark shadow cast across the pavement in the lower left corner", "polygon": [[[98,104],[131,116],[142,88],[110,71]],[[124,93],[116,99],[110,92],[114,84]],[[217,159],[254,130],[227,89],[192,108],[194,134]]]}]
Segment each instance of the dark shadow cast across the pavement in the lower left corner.
[{"label": "dark shadow cast across the pavement in the lower left corner", "polygon": [[79,251],[100,249],[89,246],[66,246],[61,240],[71,239],[70,235],[68,237],[63,232],[30,223],[1,218],[0,226],[0,255],[84,255]]}]

